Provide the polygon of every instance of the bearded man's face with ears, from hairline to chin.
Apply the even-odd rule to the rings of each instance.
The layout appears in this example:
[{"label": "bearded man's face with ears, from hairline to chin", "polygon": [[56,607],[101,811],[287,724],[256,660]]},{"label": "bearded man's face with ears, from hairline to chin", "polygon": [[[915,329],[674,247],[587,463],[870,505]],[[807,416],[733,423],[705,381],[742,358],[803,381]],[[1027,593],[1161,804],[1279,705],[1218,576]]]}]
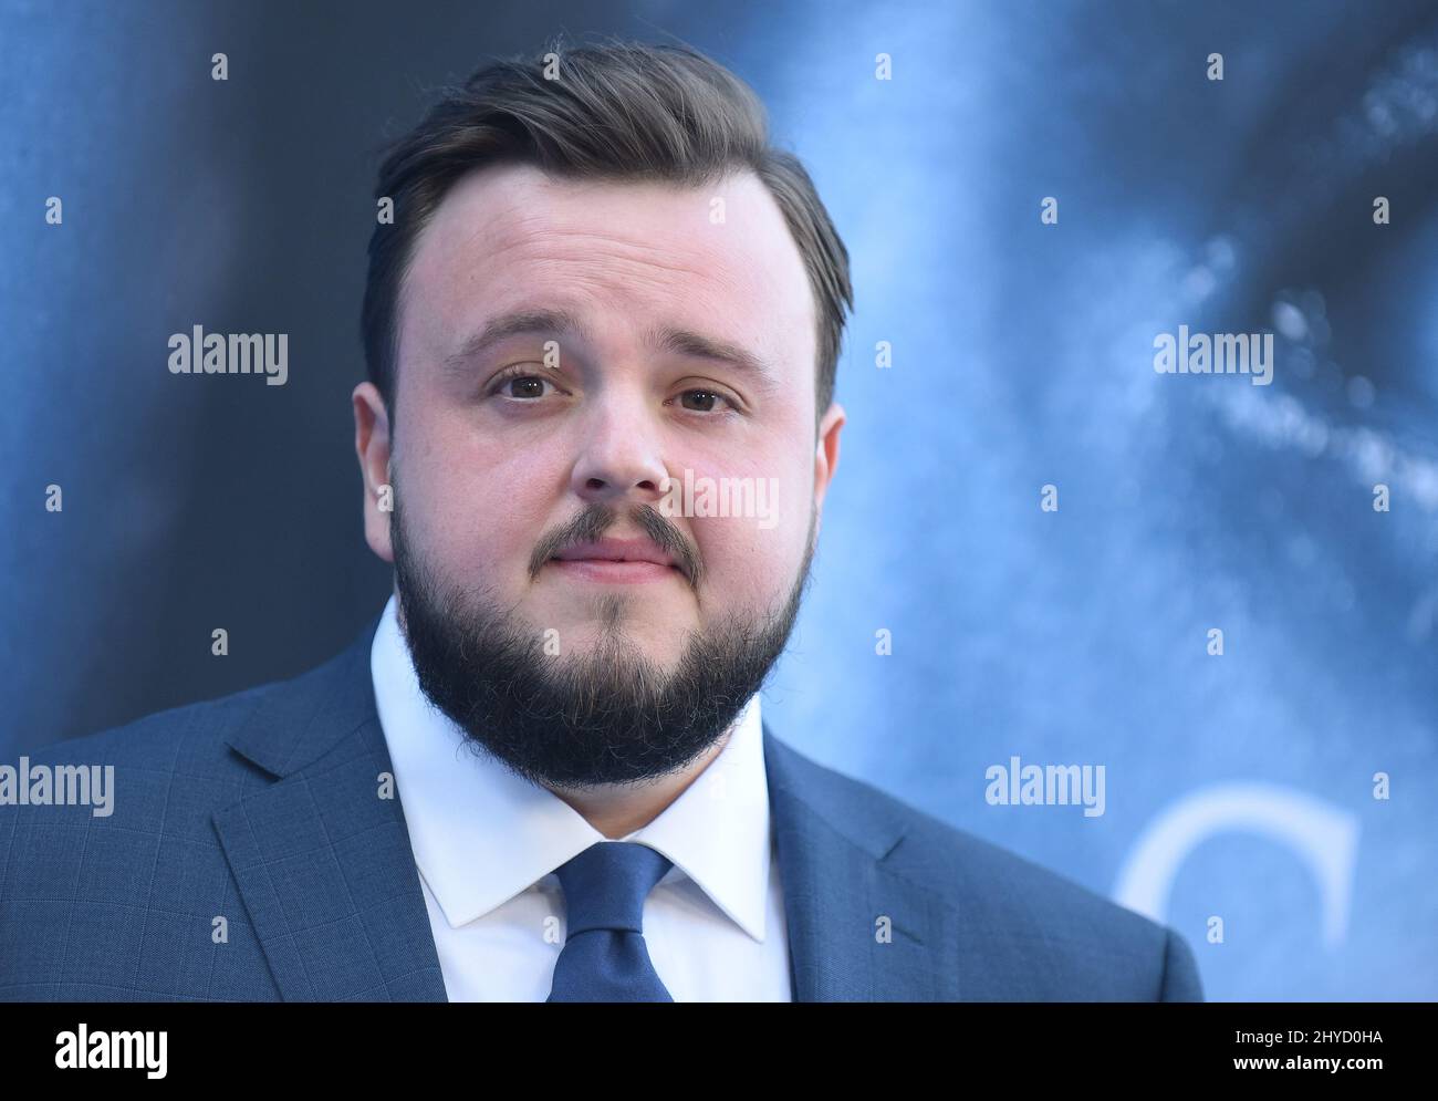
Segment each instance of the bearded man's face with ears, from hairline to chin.
[{"label": "bearded man's face with ears, from hairline to chin", "polygon": [[[431,679],[447,681],[441,694],[467,712],[452,718],[472,735],[519,721],[493,694],[464,695],[480,659],[542,665],[526,682],[539,692],[531,702],[561,702],[561,687],[569,711],[587,701],[591,714],[567,720],[574,734],[594,730],[605,704],[656,704],[679,675],[690,697],[745,691],[755,669],[736,651],[782,649],[843,410],[827,410],[815,439],[815,304],[758,178],[690,190],[554,180],[528,166],[470,174],[416,245],[398,360],[393,433],[372,387],[355,391],[367,538],[395,561],[391,515],[403,522],[401,609],[436,643],[416,665],[446,666]],[[666,479],[699,492],[666,494]],[[395,514],[375,504],[387,482]],[[705,486],[710,511],[728,501],[739,514],[693,515]],[[598,540],[647,543],[673,564],[572,557],[597,553],[577,544]],[[696,669],[697,658],[729,668]],[[743,702],[725,701],[653,760],[669,770],[693,757]],[[621,727],[641,721],[615,715],[608,734],[624,741]],[[591,774],[561,777],[532,748],[539,756],[510,764],[557,783],[653,771],[571,760],[571,773]]]}]

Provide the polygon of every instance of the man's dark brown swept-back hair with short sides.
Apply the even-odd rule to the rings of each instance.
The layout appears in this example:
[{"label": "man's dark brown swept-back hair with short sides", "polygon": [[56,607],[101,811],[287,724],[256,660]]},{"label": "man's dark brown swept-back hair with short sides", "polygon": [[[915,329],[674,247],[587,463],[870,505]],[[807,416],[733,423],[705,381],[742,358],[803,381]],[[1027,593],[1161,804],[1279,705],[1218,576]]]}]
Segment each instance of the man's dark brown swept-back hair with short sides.
[{"label": "man's dark brown swept-back hair with short sides", "polygon": [[[558,79],[546,79],[557,75]],[[557,178],[661,180],[700,187],[752,171],[794,235],[818,318],[815,425],[853,311],[848,250],[812,180],[772,148],[764,105],[743,81],[687,46],[607,42],[545,58],[495,60],[446,86],[423,121],[384,154],[375,199],[394,223],[370,237],[361,328],[370,381],[394,410],[400,295],[420,232],[462,176],[531,164]]]}]

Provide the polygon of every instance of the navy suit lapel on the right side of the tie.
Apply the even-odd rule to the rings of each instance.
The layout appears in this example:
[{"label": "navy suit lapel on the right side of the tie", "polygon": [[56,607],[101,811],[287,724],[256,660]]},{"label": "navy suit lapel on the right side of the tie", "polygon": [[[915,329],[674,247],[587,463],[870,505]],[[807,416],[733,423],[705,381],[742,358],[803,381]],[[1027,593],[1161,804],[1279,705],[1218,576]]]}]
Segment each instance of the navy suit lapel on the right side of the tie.
[{"label": "navy suit lapel on the right side of the tie", "polygon": [[956,912],[897,872],[900,813],[764,727],[795,1002],[958,1000]]}]

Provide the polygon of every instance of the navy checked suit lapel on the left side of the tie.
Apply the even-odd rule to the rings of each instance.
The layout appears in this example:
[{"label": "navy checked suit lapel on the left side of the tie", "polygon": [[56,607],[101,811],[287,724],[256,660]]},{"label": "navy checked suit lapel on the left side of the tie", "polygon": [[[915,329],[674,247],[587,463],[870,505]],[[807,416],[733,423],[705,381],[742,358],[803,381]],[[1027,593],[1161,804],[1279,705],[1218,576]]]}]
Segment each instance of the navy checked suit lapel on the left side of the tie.
[{"label": "navy checked suit lapel on the left side of the tie", "polygon": [[217,810],[214,828],[285,1000],[446,1000],[393,779],[384,790],[377,625],[265,697],[230,740],[276,779]]}]

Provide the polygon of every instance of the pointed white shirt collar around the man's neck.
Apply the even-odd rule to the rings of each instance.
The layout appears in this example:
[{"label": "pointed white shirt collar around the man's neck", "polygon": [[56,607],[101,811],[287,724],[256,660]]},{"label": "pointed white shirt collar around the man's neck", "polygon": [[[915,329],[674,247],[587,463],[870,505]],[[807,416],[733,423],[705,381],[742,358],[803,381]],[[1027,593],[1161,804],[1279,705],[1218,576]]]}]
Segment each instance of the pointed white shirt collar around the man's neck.
[{"label": "pointed white shirt collar around the man's neck", "polygon": [[[604,835],[548,789],[515,776],[420,689],[391,594],[370,651],[375,705],[420,875],[454,928],[487,914]],[[624,841],[657,849],[754,940],[765,935],[769,794],[759,694],[709,766]]]}]

